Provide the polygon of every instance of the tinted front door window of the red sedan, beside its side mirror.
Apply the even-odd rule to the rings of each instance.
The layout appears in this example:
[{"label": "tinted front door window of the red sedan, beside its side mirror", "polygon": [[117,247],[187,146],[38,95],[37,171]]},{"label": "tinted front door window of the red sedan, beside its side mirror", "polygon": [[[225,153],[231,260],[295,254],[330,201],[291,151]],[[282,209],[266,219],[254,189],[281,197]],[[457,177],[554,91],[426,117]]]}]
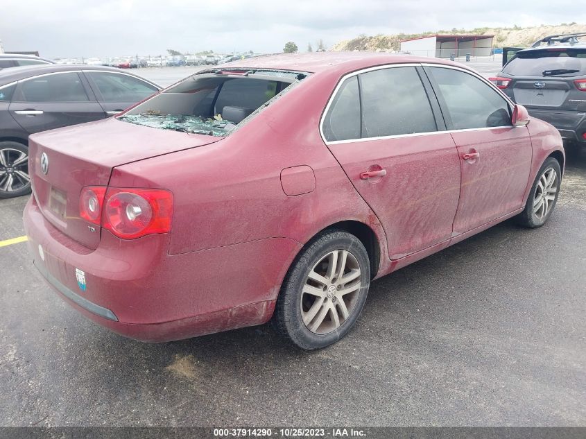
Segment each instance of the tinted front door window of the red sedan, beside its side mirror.
[{"label": "tinted front door window of the red sedan, beside its side mirror", "polygon": [[[510,126],[510,108],[503,96],[479,78],[463,71],[430,67],[438,98],[448,114],[447,125],[454,130]],[[451,123],[450,123],[451,122]]]}]

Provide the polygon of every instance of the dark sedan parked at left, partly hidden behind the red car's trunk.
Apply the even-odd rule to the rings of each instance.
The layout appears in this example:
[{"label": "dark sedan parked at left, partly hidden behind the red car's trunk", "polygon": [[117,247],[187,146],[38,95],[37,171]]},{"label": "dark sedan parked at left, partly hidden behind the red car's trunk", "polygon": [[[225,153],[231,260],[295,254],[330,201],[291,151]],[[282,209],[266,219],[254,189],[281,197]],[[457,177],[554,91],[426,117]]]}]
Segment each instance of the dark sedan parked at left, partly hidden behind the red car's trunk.
[{"label": "dark sedan parked at left, partly hidden behind the red car's trunk", "polygon": [[0,198],[31,191],[28,135],[105,119],[161,88],[112,67],[49,64],[0,71]]}]

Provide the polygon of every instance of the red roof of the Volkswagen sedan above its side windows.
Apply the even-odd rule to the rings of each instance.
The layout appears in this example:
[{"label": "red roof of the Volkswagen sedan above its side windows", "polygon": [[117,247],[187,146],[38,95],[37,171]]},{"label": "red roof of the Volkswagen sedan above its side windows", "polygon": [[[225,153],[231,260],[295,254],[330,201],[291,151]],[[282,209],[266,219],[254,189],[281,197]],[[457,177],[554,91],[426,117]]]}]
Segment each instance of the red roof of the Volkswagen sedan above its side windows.
[{"label": "red roof of the Volkswagen sedan above its side windows", "polygon": [[440,58],[424,58],[413,55],[377,53],[377,52],[314,52],[314,53],[279,53],[278,55],[258,56],[244,60],[227,62],[222,68],[241,69],[275,69],[286,71],[304,71],[318,73],[336,70],[353,71],[374,67],[381,64],[397,64],[402,62],[433,62],[463,67]]}]

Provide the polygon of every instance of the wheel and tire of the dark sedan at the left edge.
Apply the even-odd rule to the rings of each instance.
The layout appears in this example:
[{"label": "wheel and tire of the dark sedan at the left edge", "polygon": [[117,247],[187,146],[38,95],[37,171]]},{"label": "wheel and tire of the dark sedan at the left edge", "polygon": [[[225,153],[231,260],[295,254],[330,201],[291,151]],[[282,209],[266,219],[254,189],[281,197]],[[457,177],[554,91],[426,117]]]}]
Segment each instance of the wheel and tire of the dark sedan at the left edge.
[{"label": "wheel and tire of the dark sedan at the left edge", "polygon": [[0,141],[0,198],[31,193],[28,148],[16,141]]}]

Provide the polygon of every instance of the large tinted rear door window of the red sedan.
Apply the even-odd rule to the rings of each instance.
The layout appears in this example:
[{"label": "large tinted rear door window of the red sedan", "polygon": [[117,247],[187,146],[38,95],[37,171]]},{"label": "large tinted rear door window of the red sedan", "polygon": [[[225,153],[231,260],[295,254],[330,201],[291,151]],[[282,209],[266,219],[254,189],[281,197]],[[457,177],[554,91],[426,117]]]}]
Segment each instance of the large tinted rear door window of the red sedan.
[{"label": "large tinted rear door window of the red sedan", "polygon": [[438,128],[415,67],[393,67],[360,75],[362,137],[381,137]]}]

